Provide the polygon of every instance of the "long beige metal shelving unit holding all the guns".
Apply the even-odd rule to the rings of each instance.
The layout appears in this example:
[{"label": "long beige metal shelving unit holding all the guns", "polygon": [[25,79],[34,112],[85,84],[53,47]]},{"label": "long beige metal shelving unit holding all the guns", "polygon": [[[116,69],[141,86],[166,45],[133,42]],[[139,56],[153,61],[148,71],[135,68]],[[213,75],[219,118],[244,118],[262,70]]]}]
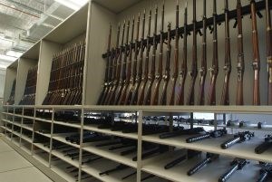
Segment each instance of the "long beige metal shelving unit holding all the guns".
[{"label": "long beige metal shelving unit holding all the guns", "polygon": [[[166,13],[165,13],[165,22],[173,22],[175,17],[175,1],[167,0],[166,1]],[[183,16],[183,7],[184,2],[180,0],[180,16]],[[208,2],[208,7],[211,5],[211,1]],[[156,1],[160,5],[162,0]],[[242,2],[247,4],[246,1]],[[235,8],[233,2],[229,2],[230,9]],[[253,162],[250,165],[242,170],[238,171],[235,174],[235,179],[232,178],[229,181],[251,181],[252,178],[256,178],[258,175],[258,169],[255,165],[256,161],[263,161],[272,163],[272,150],[269,149],[261,155],[254,153],[254,148],[263,141],[263,139],[252,139],[240,145],[234,146],[233,148],[228,148],[226,150],[221,149],[219,144],[225,140],[229,139],[232,136],[228,135],[224,138],[219,139],[207,139],[195,143],[186,143],[186,137],[176,137],[172,139],[159,139],[157,135],[151,136],[142,136],[142,123],[144,122],[144,116],[178,116],[178,115],[188,115],[189,113],[194,112],[204,112],[204,113],[214,113],[214,118],[217,119],[217,116],[220,114],[258,114],[266,115],[267,119],[270,119],[272,114],[272,107],[265,106],[267,101],[266,87],[267,87],[267,75],[266,75],[266,66],[265,66],[265,45],[264,43],[260,44],[261,50],[261,79],[260,84],[263,85],[261,90],[261,103],[263,106],[97,106],[96,100],[99,97],[99,94],[102,90],[103,76],[104,76],[104,67],[105,62],[102,59],[102,53],[106,50],[107,43],[107,34],[109,32],[109,24],[113,25],[112,31],[112,43],[115,43],[116,25],[118,22],[122,22],[123,19],[128,19],[131,17],[131,14],[137,15],[139,11],[143,11],[144,8],[152,8],[154,2],[152,0],[92,0],[87,5],[84,5],[82,9],[78,12],[72,14],[68,17],[63,24],[60,24],[56,27],[51,33],[44,36],[44,38],[36,43],[30,50],[22,56],[17,62],[12,64],[7,69],[7,76],[5,82],[5,101],[8,100],[12,80],[17,79],[16,84],[16,98],[15,105],[13,106],[4,106],[2,112],[2,126],[1,129],[4,130],[5,137],[13,142],[16,146],[22,148],[30,156],[40,161],[47,168],[51,168],[53,171],[57,172],[61,177],[67,181],[74,181],[76,178],[73,177],[66,169],[68,166],[73,166],[76,168],[76,174],[78,174],[79,181],[82,177],[82,172],[91,175],[96,178],[97,181],[105,182],[117,182],[122,181],[121,177],[125,174],[130,174],[133,171],[137,171],[137,175],[128,178],[123,181],[141,181],[141,177],[146,177],[149,174],[153,174],[156,177],[152,177],[147,182],[152,181],[179,181],[179,182],[215,182],[218,181],[219,175],[221,175],[224,170],[228,168],[228,161],[231,158],[247,158]],[[219,4],[218,10],[221,10],[223,7],[222,4]],[[202,7],[198,4],[198,12],[202,12]],[[189,18],[191,17],[191,2],[189,1]],[[211,10],[209,11],[209,16]],[[200,15],[198,13],[198,19],[200,20]],[[182,23],[182,18],[180,18],[180,24]],[[159,14],[160,20],[160,14]],[[190,20],[190,19],[189,19]],[[260,19],[259,24],[265,24],[264,19]],[[245,25],[244,34],[245,37],[250,37],[250,20],[249,18],[244,18],[243,23]],[[166,25],[165,25],[166,26]],[[160,27],[160,21],[158,21],[158,27]],[[153,27],[151,27],[151,30]],[[165,29],[166,30],[166,29]],[[236,31],[231,31],[231,37],[236,37]],[[219,44],[224,41],[224,27],[223,25],[219,26]],[[191,37],[189,36],[188,47],[191,47]],[[259,25],[259,39],[265,40],[265,26]],[[54,53],[58,53],[64,48],[72,45],[73,43],[80,43],[86,40],[86,53],[85,53],[85,63],[84,63],[84,81],[83,81],[83,105],[77,106],[44,106],[42,105],[46,91],[48,89],[48,82],[50,79],[50,70],[51,63]],[[208,35],[208,40],[211,40],[210,34]],[[200,45],[200,39],[198,40]],[[236,65],[236,41],[233,41],[231,46],[232,53],[232,63]],[[250,39],[245,38],[245,60],[251,60],[251,46]],[[234,43],[235,42],[235,43]],[[220,44],[220,45],[221,45]],[[181,46],[181,43],[180,43]],[[210,52],[211,46],[208,46],[208,64],[210,65]],[[181,50],[181,47],[180,47]],[[198,47],[200,53],[200,47]],[[223,67],[223,56],[224,49],[219,49],[219,68]],[[190,49],[188,55],[190,55]],[[172,56],[173,57],[173,56]],[[181,53],[180,53],[181,59]],[[18,106],[23,91],[24,91],[24,81],[26,79],[27,69],[34,64],[38,64],[38,76],[37,76],[37,87],[36,87],[36,100],[34,106]],[[235,66],[233,66],[235,67]],[[223,72],[219,72],[219,82],[218,88],[221,88],[223,81]],[[245,78],[250,78],[252,75],[251,64],[246,64]],[[237,73],[233,69],[231,73],[231,82],[236,83]],[[208,78],[207,78],[208,79]],[[253,79],[253,77],[252,77]],[[220,81],[221,80],[221,81]],[[207,85],[209,81],[207,82]],[[189,87],[189,82],[186,82],[186,89]],[[198,85],[196,85],[196,91],[198,90]],[[245,103],[251,104],[251,94],[252,94],[252,81],[247,81],[245,84]],[[230,104],[235,103],[235,93],[236,85],[231,87],[230,90]],[[217,99],[219,102],[219,94],[217,92]],[[19,110],[19,113],[18,113]],[[25,110],[34,110],[33,115],[25,115]],[[37,111],[45,110],[47,112],[52,112],[51,119],[39,118],[36,116]],[[63,121],[54,120],[54,113],[59,110],[77,110],[81,113],[81,122],[80,123],[67,123]],[[83,116],[84,113],[89,112],[103,112],[103,113],[137,113],[138,115],[138,133],[122,133],[121,131],[112,131],[110,129],[98,129],[94,125],[84,125]],[[33,124],[24,124],[24,120],[32,120]],[[267,121],[271,122],[271,121]],[[37,127],[38,126],[38,127]],[[50,133],[39,132],[39,126],[46,126],[46,129],[50,129]],[[55,126],[66,127],[67,129],[74,129],[81,133],[81,142],[80,144],[72,144],[65,140],[65,136],[70,135],[71,133],[66,134],[56,134],[53,132]],[[217,127],[216,125],[214,126]],[[222,127],[222,126],[218,126]],[[225,127],[225,126],[223,126]],[[231,128],[231,127],[230,127]],[[232,127],[233,129],[235,127]],[[19,130],[18,130],[19,129]],[[245,128],[248,129],[248,128]],[[126,138],[126,139],[135,139],[137,140],[138,150],[134,154],[138,156],[137,161],[132,161],[131,156],[123,157],[118,152],[109,151],[108,148],[97,148],[93,144],[83,143],[83,130],[95,131],[111,136]],[[254,130],[254,128],[251,128]],[[257,130],[257,129],[256,129]],[[30,135],[25,133],[30,132]],[[272,129],[266,129],[265,131],[271,131]],[[42,136],[49,143],[49,148],[44,147],[44,143],[34,142],[36,136]],[[78,148],[80,151],[80,158],[77,160],[72,160],[67,158],[58,150],[52,148],[54,141],[60,141],[63,144],[69,145],[73,148]],[[177,166],[176,168],[171,168],[165,170],[163,166],[182,154],[183,150],[167,152],[161,154],[154,158],[141,159],[141,147],[142,142],[151,142],[157,144],[170,145],[176,148],[191,148],[196,150],[201,150],[204,152],[212,152],[222,156],[216,162],[211,163],[207,168],[201,170],[198,174],[195,174],[192,177],[188,177],[186,172],[188,168],[192,167],[193,164],[199,161],[202,157],[198,157],[189,161],[182,163],[182,165]],[[95,161],[91,164],[82,165],[83,158],[82,154],[84,151],[90,152],[97,156],[102,157],[102,160]],[[58,158],[58,159],[57,159]],[[254,162],[255,161],[255,162]],[[109,176],[100,176],[99,173],[108,169],[115,167],[118,163],[127,165],[131,168],[121,172],[116,172]],[[215,170],[215,168],[217,170]],[[247,174],[247,175],[244,175]],[[95,180],[93,180],[95,181]]]}]

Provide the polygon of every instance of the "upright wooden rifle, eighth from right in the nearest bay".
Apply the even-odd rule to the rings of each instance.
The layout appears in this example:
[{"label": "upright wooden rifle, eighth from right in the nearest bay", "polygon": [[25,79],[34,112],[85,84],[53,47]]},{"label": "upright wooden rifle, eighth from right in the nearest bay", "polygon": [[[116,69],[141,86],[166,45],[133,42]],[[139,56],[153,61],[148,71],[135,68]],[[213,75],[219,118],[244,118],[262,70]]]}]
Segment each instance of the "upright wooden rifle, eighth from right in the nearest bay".
[{"label": "upright wooden rifle, eighth from right in the nearest bay", "polygon": [[184,104],[184,88],[185,88],[185,81],[187,77],[187,3],[185,5],[185,11],[184,11],[184,33],[183,33],[183,57],[181,62],[181,71],[180,71],[180,86],[178,91],[178,101],[177,105],[183,105]]}]

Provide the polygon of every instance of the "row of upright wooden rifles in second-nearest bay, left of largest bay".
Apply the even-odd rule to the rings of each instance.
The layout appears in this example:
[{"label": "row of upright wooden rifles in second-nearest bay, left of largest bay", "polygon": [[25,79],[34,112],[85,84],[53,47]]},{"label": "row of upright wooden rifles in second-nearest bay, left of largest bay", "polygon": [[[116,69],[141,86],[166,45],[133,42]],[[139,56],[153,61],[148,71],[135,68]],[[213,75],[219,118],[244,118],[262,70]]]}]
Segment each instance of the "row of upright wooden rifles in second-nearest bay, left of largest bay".
[{"label": "row of upright wooden rifles in second-nearest bay, left of largest bay", "polygon": [[44,105],[82,104],[84,56],[85,43],[76,43],[53,56]]}]

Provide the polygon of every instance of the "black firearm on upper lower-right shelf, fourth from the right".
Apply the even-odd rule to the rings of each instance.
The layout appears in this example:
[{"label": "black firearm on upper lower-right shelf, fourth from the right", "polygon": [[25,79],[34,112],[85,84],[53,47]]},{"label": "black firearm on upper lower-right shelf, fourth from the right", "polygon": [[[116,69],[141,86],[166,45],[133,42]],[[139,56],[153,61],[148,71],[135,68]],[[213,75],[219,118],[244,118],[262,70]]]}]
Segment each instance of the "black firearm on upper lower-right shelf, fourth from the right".
[{"label": "black firearm on upper lower-right shelf, fourth from the right", "polygon": [[198,134],[200,132],[203,132],[204,129],[201,127],[198,128],[193,128],[193,129],[179,129],[173,132],[167,132],[167,133],[162,133],[160,134],[160,139],[169,139],[173,137],[178,137],[180,135],[193,135],[193,134]]}]

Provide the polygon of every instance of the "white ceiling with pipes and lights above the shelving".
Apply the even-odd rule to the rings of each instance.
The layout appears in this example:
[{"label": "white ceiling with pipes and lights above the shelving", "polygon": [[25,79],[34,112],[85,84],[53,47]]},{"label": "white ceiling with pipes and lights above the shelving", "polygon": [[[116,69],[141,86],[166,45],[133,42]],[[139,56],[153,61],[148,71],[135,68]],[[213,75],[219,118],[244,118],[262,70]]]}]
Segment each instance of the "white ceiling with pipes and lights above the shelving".
[{"label": "white ceiling with pipes and lights above the shelving", "polygon": [[[57,0],[0,0],[0,56],[9,50],[25,52],[73,12]],[[0,70],[10,63],[0,58]]]}]

